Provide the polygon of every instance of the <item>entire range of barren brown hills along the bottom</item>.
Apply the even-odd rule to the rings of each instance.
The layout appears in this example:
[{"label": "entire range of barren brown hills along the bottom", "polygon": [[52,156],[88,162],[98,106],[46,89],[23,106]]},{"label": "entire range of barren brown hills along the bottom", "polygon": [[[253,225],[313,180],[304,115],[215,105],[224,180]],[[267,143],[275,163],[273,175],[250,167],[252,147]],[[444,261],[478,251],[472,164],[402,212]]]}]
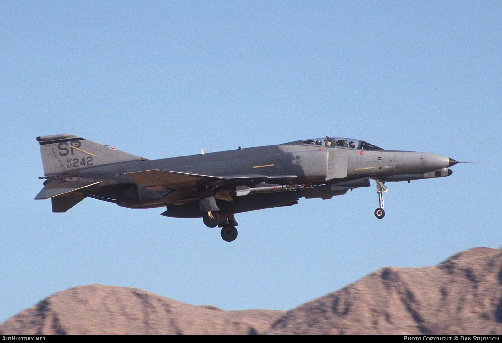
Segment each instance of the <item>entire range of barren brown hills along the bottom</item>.
[{"label": "entire range of barren brown hills along the bottom", "polygon": [[502,250],[474,248],[433,267],[383,268],[288,312],[222,311],[136,288],[58,292],[0,333],[502,333]]}]

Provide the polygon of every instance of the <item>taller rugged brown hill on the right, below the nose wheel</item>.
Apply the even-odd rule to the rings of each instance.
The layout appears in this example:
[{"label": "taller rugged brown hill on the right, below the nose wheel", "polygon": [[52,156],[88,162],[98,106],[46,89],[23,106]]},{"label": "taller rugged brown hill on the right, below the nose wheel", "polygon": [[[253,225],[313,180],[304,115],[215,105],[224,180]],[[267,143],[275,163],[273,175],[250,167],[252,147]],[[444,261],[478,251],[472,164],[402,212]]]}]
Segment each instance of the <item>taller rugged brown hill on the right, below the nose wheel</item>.
[{"label": "taller rugged brown hill on the right, below the nose wheel", "polygon": [[502,333],[502,251],[383,268],[275,322],[269,333]]}]

